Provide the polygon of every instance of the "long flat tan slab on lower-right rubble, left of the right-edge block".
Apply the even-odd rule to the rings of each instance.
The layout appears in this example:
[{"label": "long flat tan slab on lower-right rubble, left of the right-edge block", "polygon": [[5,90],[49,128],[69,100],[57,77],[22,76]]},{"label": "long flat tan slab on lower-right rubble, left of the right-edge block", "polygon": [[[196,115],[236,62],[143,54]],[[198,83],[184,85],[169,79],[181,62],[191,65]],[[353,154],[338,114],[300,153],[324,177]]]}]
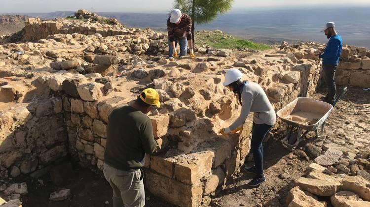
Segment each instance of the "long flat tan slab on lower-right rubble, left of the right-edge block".
[{"label": "long flat tan slab on lower-right rubble, left of the right-edge block", "polygon": [[341,183],[333,180],[319,180],[306,177],[299,177],[296,181],[296,186],[310,193],[319,196],[332,196]]}]

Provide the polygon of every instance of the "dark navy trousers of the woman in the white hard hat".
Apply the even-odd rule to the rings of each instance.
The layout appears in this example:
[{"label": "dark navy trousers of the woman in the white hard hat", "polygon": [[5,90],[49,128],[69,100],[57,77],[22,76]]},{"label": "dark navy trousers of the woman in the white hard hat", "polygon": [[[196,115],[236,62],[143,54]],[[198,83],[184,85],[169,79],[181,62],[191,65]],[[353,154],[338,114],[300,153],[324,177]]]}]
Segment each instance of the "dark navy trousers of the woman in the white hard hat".
[{"label": "dark navy trousers of the woman in the white hard hat", "polygon": [[262,141],[271,129],[271,125],[253,123],[251,148],[255,160],[257,176],[263,177],[263,146]]}]

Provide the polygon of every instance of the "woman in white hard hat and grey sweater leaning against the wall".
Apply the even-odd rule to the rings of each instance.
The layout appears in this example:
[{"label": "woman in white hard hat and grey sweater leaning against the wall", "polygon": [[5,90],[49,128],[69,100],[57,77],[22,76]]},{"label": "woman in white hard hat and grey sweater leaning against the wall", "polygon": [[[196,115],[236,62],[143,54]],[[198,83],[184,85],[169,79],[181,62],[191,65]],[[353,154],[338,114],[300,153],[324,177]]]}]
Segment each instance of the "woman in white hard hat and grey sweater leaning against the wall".
[{"label": "woman in white hard hat and grey sweater leaning against the wall", "polygon": [[242,106],[241,114],[229,127],[223,128],[222,135],[235,133],[243,126],[249,112],[254,112],[251,149],[255,160],[255,166],[245,167],[245,170],[256,174],[248,185],[258,186],[266,178],[263,175],[263,138],[276,122],[275,110],[272,108],[266,93],[257,83],[242,81],[243,74],[236,68],[226,72],[223,86],[238,95]]}]

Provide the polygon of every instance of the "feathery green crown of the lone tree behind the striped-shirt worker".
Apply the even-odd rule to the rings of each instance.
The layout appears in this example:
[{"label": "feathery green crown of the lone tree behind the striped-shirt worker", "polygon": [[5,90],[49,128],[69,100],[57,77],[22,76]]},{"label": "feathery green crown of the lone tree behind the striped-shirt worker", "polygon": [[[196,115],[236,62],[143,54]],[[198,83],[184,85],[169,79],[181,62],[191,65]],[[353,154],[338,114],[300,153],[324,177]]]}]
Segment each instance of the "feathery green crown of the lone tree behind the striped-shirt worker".
[{"label": "feathery green crown of the lone tree behind the striped-shirt worker", "polygon": [[188,14],[193,23],[209,23],[217,15],[226,13],[233,0],[175,0],[175,8]]}]

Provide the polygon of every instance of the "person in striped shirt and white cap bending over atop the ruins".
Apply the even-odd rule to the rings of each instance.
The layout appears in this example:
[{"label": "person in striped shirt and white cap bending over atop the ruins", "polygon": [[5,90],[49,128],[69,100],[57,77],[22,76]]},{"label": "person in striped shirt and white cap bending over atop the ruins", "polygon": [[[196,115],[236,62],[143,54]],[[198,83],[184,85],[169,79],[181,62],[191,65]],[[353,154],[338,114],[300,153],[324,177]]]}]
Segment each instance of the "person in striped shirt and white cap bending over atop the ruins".
[{"label": "person in striped shirt and white cap bending over atop the ruins", "polygon": [[[179,9],[174,9],[167,20],[167,31],[169,58],[185,56],[187,47],[189,47],[190,57],[195,58],[189,15],[182,14]],[[180,57],[176,50],[177,43],[180,45]]]}]

